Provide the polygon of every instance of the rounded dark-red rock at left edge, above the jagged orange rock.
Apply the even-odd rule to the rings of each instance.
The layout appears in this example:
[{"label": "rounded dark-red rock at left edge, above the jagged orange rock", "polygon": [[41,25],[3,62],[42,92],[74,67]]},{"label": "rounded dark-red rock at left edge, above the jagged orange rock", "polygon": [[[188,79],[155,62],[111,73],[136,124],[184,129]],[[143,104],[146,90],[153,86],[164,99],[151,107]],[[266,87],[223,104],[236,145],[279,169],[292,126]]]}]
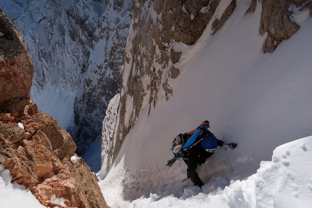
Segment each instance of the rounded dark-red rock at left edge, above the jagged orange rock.
[{"label": "rounded dark-red rock at left edge, above the jagged orange rock", "polygon": [[22,34],[0,9],[0,104],[30,99],[34,67]]}]

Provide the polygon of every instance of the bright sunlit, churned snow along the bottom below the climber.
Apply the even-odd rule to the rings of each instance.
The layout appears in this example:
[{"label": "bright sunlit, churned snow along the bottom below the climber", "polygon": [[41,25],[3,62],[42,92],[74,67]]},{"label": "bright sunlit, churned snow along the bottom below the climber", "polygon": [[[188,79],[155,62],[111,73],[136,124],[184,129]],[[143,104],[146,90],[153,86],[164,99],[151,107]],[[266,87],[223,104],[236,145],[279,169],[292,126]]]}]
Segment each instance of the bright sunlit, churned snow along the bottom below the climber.
[{"label": "bright sunlit, churned snow along the bottom below the climber", "polygon": [[[157,175],[150,175],[150,170],[129,173],[124,172],[121,164],[100,185],[105,200],[111,207],[311,207],[312,169],[307,167],[312,159],[311,139],[312,137],[306,137],[277,147],[272,161],[262,161],[257,172],[246,180],[234,181],[225,174],[213,178],[202,186],[202,190],[192,186],[190,180],[179,182],[183,180],[180,176],[182,174],[163,181],[159,176],[170,175],[172,172],[158,172]],[[176,163],[174,165],[177,166]],[[181,171],[186,169],[180,166],[175,168]],[[124,174],[121,175],[121,172]],[[139,183],[137,178],[143,175],[151,177],[154,182],[146,183],[148,180],[143,180]],[[129,184],[125,177],[131,177],[132,181],[140,185],[144,184],[147,194],[134,201],[119,198],[121,192],[133,194],[137,191],[127,188]],[[157,184],[162,185],[160,190],[155,189]],[[148,194],[148,190],[152,192]]]}]

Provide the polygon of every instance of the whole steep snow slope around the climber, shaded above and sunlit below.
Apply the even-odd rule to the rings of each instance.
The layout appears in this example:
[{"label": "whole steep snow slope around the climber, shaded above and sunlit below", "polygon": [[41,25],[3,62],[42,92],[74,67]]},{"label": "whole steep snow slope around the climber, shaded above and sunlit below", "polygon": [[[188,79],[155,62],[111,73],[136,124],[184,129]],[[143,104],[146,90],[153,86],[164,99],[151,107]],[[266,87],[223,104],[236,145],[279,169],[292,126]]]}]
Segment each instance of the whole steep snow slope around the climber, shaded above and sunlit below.
[{"label": "whole steep snow slope around the climber, shaded above and sunlit below", "polygon": [[[174,45],[174,50],[183,54],[174,65],[180,69],[180,75],[168,83],[173,89],[172,96],[168,102],[165,95],[158,99],[149,116],[148,102],[142,104],[139,119],[125,138],[110,172],[107,176],[105,169],[98,173],[108,205],[191,207],[197,201],[194,207],[198,207],[199,204],[208,206],[218,198],[215,207],[273,207],[273,201],[277,207],[284,207],[278,194],[274,198],[283,187],[288,192],[280,196],[311,205],[310,199],[301,198],[301,194],[311,195],[310,188],[306,186],[305,191],[295,194],[303,184],[299,175],[305,175],[304,180],[311,184],[309,174],[299,171],[296,175],[290,169],[287,171],[294,175],[288,174],[283,168],[290,168],[291,161],[287,166],[288,162],[280,159],[283,161],[280,167],[274,166],[274,157],[273,163],[261,161],[271,161],[276,147],[312,135],[312,20],[308,10],[299,12],[299,8],[290,7],[300,30],[283,41],[274,53],[263,54],[266,35],[259,34],[261,3],[258,2],[255,12],[244,15],[249,5],[250,1],[237,1],[235,11],[214,36],[211,36],[211,21],[193,46]],[[215,17],[217,15],[220,13]],[[162,91],[159,93],[158,98]],[[186,177],[183,161],[172,167],[165,164],[173,157],[169,151],[172,139],[178,133],[193,130],[206,119],[218,139],[237,143],[238,147],[218,148],[197,169],[205,183],[200,192],[192,187],[190,180],[180,183]],[[286,149],[283,151],[288,159]],[[292,154],[290,151],[290,156]],[[277,154],[276,157],[284,156]],[[306,154],[304,160],[309,159]],[[272,168],[277,172],[275,175],[270,172]],[[258,175],[254,175],[257,170]],[[259,175],[261,172],[266,176]],[[271,186],[274,180],[269,176],[280,182]],[[296,178],[298,181],[294,184],[298,187],[286,177]],[[260,179],[267,181],[262,183]],[[264,191],[257,188],[253,194],[251,190],[255,185]],[[266,196],[268,190],[272,190],[270,196]],[[289,193],[293,198],[287,196]],[[271,204],[265,204],[266,201]]]}]

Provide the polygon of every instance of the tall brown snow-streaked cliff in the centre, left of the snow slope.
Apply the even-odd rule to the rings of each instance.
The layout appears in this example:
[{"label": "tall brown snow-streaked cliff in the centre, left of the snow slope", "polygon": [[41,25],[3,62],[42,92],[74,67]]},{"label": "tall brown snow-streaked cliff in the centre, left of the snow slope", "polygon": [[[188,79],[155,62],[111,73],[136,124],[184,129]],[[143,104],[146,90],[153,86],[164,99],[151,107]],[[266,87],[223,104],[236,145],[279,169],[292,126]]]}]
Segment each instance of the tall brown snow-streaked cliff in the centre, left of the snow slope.
[{"label": "tall brown snow-streaked cliff in the centre, left of the snow slope", "polygon": [[[143,104],[148,102],[145,107],[150,111],[158,99],[168,100],[173,93],[168,83],[180,73],[173,64],[181,56],[173,50],[173,44],[194,44],[211,21],[218,3],[218,0],[136,2],[121,71],[117,119],[107,117],[108,123],[103,125],[104,132],[112,132],[109,122],[116,120],[114,133],[103,138],[102,161],[107,161],[107,171]],[[221,21],[215,25],[218,24],[222,25]]]}]

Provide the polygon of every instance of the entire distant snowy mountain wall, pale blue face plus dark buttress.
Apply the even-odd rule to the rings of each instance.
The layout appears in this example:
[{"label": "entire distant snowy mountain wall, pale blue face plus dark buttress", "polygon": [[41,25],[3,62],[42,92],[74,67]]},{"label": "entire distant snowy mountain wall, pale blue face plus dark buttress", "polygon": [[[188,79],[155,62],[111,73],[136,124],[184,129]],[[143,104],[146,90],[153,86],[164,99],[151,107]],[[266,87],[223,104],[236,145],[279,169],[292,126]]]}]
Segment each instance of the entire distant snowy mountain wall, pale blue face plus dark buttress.
[{"label": "entire distant snowy mountain wall, pale blue face plus dark buttress", "polygon": [[108,101],[120,91],[133,6],[133,0],[0,0],[34,62],[32,99],[68,128],[80,153],[96,138],[100,145]]}]

